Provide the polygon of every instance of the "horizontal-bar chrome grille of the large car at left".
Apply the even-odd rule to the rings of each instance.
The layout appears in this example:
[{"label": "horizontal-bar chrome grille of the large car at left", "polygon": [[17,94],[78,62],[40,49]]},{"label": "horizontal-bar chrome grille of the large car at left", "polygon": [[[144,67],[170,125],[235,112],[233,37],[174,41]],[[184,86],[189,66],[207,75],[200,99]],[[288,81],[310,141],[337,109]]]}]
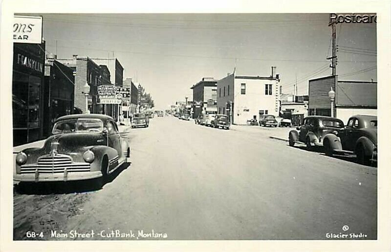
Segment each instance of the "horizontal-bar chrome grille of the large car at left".
[{"label": "horizontal-bar chrome grille of the large car at left", "polygon": [[66,155],[56,155],[54,157],[44,156],[38,159],[36,164],[24,164],[21,166],[21,173],[64,173],[67,172],[86,172],[90,169],[89,163],[75,163]]}]

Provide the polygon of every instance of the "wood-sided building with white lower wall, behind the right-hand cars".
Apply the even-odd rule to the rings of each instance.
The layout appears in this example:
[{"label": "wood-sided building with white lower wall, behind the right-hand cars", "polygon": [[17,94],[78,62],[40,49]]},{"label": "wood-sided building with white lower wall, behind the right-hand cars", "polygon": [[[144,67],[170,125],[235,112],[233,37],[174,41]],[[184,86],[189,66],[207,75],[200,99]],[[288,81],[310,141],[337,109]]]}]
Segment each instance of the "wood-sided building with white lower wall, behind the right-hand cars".
[{"label": "wood-sided building with white lower wall, behind the right-hand cars", "polygon": [[309,115],[331,115],[331,88],[335,92],[334,117],[344,123],[352,115],[377,115],[377,82],[340,81],[338,75],[309,80]]}]

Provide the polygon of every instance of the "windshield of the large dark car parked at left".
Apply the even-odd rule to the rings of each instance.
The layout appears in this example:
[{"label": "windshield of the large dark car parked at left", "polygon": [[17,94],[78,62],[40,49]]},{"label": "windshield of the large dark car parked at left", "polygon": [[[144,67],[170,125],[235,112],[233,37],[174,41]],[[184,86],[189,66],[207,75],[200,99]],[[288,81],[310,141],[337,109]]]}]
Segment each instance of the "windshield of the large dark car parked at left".
[{"label": "windshield of the large dark car parked at left", "polygon": [[72,119],[59,121],[54,124],[52,134],[65,134],[71,132],[96,132],[103,131],[103,122],[99,119]]}]

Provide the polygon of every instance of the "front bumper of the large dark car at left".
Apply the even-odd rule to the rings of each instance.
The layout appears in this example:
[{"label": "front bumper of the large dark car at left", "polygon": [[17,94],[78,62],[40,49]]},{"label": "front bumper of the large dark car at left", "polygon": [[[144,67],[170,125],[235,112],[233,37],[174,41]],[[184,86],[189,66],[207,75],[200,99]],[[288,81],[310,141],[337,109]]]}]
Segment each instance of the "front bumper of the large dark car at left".
[{"label": "front bumper of the large dark car at left", "polygon": [[89,180],[102,177],[101,171],[94,172],[64,172],[64,173],[35,173],[14,174],[14,181],[20,182],[55,182]]}]

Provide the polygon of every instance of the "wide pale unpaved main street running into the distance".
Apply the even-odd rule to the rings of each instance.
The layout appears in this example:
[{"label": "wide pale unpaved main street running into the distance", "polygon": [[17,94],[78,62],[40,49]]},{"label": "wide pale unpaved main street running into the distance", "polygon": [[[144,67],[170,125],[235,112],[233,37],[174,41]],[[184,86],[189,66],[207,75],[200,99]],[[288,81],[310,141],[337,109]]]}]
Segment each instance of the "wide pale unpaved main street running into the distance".
[{"label": "wide pale unpaved main street running into the distance", "polygon": [[[42,231],[35,239],[45,240],[326,239],[327,233],[376,239],[376,168],[269,135],[260,127],[226,131],[154,118],[150,128],[130,131],[132,163],[103,189],[16,192],[14,239],[27,239],[29,230]],[[52,230],[67,237],[51,237]],[[89,238],[70,235],[91,230]],[[134,236],[115,237],[130,231]]]}]

